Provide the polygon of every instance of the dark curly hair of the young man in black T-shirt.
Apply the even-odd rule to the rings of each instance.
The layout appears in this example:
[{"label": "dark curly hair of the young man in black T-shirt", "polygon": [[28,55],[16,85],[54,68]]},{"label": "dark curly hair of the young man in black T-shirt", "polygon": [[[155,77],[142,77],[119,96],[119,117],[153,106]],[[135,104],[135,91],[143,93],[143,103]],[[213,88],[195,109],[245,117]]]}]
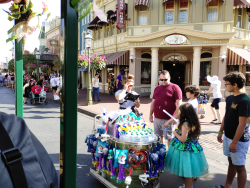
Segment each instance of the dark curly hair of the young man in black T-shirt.
[{"label": "dark curly hair of the young man in black T-shirt", "polygon": [[237,84],[239,89],[243,88],[246,83],[246,77],[241,72],[230,72],[223,77],[223,80],[230,82],[232,85]]}]

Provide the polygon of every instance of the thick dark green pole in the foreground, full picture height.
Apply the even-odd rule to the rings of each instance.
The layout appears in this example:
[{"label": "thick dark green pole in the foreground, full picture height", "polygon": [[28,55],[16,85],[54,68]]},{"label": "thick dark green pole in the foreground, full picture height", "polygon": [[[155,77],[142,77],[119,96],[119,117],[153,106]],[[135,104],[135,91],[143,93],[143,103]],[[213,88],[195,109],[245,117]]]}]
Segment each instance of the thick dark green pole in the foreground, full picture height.
[{"label": "thick dark green pole in the foreground, full picture height", "polygon": [[71,0],[61,0],[60,188],[76,188],[78,17]]}]

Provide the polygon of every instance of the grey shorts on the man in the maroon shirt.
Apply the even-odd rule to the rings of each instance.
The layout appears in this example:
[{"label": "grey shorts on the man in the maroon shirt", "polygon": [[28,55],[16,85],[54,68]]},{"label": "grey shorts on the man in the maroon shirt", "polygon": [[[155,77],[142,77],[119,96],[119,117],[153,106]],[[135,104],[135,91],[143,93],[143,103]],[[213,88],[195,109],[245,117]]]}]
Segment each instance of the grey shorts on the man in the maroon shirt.
[{"label": "grey shorts on the man in the maroon shirt", "polygon": [[[165,139],[169,140],[174,138],[172,123],[169,124],[169,127],[166,128],[164,124],[167,122],[167,119],[154,119],[154,133],[158,136],[164,136]],[[167,129],[168,131],[163,131],[162,129]]]}]

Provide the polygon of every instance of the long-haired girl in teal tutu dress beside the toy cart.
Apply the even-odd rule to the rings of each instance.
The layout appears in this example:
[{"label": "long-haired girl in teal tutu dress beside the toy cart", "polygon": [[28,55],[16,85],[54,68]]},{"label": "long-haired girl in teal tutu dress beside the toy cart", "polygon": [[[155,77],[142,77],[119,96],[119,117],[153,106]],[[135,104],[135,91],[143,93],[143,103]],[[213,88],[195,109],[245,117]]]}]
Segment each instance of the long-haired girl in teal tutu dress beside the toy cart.
[{"label": "long-haired girl in teal tutu dress beside the toy cart", "polygon": [[208,172],[208,164],[203,148],[198,142],[201,127],[198,116],[189,103],[180,106],[180,124],[173,134],[165,159],[165,167],[185,178],[185,188],[192,188],[194,177]]}]

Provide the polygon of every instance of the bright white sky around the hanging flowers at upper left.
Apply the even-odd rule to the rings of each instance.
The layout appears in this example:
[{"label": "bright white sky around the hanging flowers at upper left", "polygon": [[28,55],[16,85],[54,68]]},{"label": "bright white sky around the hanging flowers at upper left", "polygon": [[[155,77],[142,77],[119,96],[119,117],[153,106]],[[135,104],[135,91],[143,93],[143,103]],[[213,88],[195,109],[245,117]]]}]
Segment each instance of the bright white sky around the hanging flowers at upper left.
[{"label": "bright white sky around the hanging flowers at upper left", "polygon": [[[51,12],[51,15],[48,19],[48,21],[51,21],[53,18],[56,16],[61,15],[60,13],[60,4],[61,0],[45,0],[48,5],[48,12]],[[7,4],[0,4],[0,24],[1,24],[1,29],[0,29],[0,62],[6,62],[6,57],[10,60],[12,58],[11,52],[9,51],[12,47],[13,44],[12,42],[6,43],[6,39],[8,39],[8,34],[7,31],[11,29],[14,25],[14,21],[10,22],[8,20],[8,14],[3,11],[4,10],[9,10],[11,3]],[[42,17],[41,21],[44,21],[46,17]],[[39,47],[39,40],[34,41],[36,46]]]}]

